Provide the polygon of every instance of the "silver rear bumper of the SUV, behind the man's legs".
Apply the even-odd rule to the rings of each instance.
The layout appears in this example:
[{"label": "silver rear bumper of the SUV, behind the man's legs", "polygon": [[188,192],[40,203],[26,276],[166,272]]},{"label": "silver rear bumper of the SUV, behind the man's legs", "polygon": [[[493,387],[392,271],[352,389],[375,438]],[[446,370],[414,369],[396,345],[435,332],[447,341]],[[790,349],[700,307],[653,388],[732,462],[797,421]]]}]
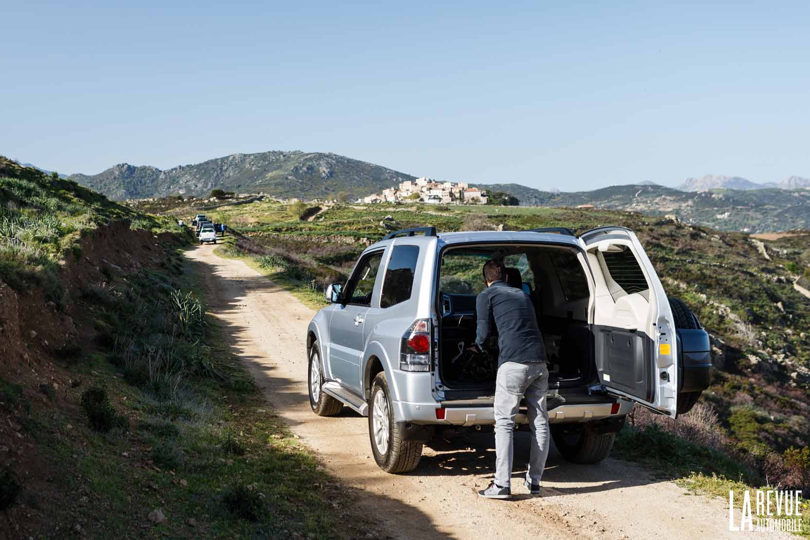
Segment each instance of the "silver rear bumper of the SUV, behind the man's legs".
[{"label": "silver rear bumper of the SUV, behind the man's legs", "polygon": [[[611,414],[614,400],[600,403],[566,403],[548,411],[549,423],[578,423],[590,422],[606,418],[618,418],[629,414],[633,409],[633,402],[616,400],[619,403],[619,410],[615,415]],[[450,405],[450,404],[448,404]],[[495,423],[495,409],[491,404],[471,404],[446,406],[445,418],[436,419],[436,410],[441,408],[440,403],[407,403],[395,402],[397,419],[403,421],[434,426],[477,426]],[[527,423],[526,407],[521,407],[520,412],[515,417],[515,423]]]}]

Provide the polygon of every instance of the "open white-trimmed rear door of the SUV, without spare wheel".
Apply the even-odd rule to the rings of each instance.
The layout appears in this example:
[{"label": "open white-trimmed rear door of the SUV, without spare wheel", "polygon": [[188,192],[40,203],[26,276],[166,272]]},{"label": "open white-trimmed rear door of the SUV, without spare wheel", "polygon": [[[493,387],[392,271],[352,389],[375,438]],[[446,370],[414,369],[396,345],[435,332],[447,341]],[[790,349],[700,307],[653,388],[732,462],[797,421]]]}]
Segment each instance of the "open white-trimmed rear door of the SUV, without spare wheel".
[{"label": "open white-trimmed rear door of the SUV, without spare wheel", "polygon": [[675,321],[642,244],[625,227],[591,229],[579,240],[594,278],[589,321],[599,380],[610,393],[675,418]]}]

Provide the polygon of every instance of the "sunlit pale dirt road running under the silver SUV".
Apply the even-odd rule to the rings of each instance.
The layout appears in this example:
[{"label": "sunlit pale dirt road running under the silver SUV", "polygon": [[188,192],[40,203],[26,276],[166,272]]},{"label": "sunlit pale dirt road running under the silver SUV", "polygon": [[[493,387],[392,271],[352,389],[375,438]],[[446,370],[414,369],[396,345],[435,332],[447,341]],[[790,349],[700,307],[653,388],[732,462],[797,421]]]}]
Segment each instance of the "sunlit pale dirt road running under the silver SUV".
[{"label": "sunlit pale dirt road running under the silver SUV", "polygon": [[[543,496],[519,477],[527,434],[516,434],[515,500],[484,500],[492,478],[492,435],[457,437],[426,447],[411,474],[386,474],[371,457],[367,419],[348,407],[336,418],[309,409],[305,331],[313,311],[242,261],[199,246],[188,257],[206,275],[207,300],[233,351],[266,398],[311,446],[330,473],[354,489],[357,508],[379,522],[372,536],[391,538],[789,538],[728,530],[727,501],[689,495],[625,461],[596,466],[564,461],[552,448]],[[738,521],[739,522],[739,521]]]}]

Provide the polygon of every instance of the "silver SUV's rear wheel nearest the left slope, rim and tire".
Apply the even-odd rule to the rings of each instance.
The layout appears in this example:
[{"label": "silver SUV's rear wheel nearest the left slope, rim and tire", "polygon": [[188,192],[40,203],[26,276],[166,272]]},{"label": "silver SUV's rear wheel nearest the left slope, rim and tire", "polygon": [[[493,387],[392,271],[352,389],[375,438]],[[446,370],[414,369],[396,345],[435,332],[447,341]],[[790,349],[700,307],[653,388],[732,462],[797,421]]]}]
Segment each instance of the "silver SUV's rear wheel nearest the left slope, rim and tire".
[{"label": "silver SUV's rear wheel nearest the left slope, rim and tire", "polygon": [[386,473],[407,473],[414,470],[422,457],[424,444],[416,440],[405,440],[400,426],[394,416],[386,373],[379,372],[371,385],[369,439],[374,461]]}]

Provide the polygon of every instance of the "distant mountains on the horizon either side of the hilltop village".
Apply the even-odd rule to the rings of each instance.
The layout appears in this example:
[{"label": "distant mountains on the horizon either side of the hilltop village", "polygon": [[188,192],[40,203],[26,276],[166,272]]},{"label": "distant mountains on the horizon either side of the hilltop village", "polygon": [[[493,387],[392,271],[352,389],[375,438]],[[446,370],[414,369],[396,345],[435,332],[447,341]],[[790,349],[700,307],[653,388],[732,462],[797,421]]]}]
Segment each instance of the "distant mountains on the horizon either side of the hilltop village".
[{"label": "distant mountains on the horizon either side of the hilltop village", "polygon": [[[200,196],[215,188],[305,199],[345,193],[354,199],[415,179],[343,155],[302,151],[232,154],[166,170],[118,164],[98,174],[68,177],[116,199],[177,193]],[[475,186],[514,195],[523,206],[595,206],[671,214],[720,230],[773,232],[810,227],[810,180],[800,176],[757,184],[740,176],[707,175],[689,178],[677,188],[645,181],[571,193],[521,184]]]}]

